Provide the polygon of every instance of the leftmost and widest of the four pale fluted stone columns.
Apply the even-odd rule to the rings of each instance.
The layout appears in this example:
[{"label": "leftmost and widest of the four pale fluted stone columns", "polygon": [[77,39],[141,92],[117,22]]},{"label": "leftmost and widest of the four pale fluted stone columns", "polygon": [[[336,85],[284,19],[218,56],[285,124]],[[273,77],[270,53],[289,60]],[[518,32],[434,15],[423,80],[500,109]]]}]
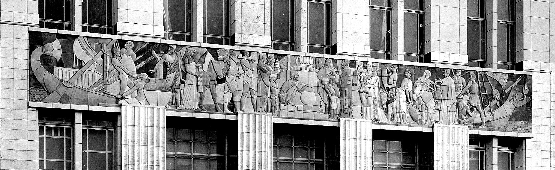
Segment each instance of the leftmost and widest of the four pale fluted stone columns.
[{"label": "leftmost and widest of the four pale fluted stone columns", "polygon": [[166,169],[165,111],[160,106],[122,105],[122,169]]}]

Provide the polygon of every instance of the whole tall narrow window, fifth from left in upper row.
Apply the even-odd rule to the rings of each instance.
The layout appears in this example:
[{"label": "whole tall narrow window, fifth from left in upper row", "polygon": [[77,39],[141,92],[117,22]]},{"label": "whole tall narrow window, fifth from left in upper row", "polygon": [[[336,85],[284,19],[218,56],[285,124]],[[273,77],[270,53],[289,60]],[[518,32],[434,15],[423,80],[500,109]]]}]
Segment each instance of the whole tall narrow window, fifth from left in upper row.
[{"label": "whole tall narrow window, fifth from left in upper row", "polygon": [[274,49],[295,50],[295,1],[272,1],[272,44]]}]

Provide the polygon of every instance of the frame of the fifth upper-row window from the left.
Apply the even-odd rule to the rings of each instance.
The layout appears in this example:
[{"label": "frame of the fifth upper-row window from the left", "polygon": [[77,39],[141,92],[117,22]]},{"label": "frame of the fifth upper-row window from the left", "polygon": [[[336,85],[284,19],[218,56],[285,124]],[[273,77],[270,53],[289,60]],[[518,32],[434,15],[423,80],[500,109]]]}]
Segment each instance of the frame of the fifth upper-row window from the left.
[{"label": "frame of the fifth upper-row window from the left", "polygon": [[[274,7],[274,1],[272,1],[272,13],[271,13],[271,20],[272,20],[272,24],[271,24],[271,34],[272,34],[272,49],[276,49],[276,45],[277,44],[283,44],[283,45],[288,45],[289,46],[289,50],[288,51],[295,51],[295,45],[296,45],[296,37],[295,37],[295,27],[296,27],[296,1],[295,0],[287,0],[289,1],[289,39],[291,41],[282,41],[282,40],[275,40],[274,39],[274,11],[276,10]],[[299,1],[299,0],[297,0]],[[280,50],[280,49],[277,49]]]}]

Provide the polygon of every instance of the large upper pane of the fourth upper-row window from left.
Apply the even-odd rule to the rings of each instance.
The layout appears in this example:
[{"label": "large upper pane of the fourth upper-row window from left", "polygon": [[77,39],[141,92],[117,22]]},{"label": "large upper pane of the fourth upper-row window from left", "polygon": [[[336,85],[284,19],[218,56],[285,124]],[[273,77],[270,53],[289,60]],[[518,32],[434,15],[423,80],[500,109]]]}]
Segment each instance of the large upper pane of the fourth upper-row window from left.
[{"label": "large upper pane of the fourth upper-row window from left", "polygon": [[227,29],[227,0],[204,1],[205,34],[226,35]]}]

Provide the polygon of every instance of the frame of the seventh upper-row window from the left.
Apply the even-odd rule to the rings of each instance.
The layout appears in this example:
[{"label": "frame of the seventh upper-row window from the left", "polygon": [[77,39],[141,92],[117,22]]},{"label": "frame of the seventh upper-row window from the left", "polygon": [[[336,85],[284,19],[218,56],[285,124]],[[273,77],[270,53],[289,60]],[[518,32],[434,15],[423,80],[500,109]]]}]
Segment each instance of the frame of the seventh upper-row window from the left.
[{"label": "frame of the seventh upper-row window from the left", "polygon": [[[376,49],[372,49],[372,42],[370,42],[370,58],[376,58],[374,57],[372,54],[375,53],[380,53],[380,54],[384,54],[385,58],[376,58],[376,59],[391,59],[391,42],[392,42],[392,7],[391,7],[391,0],[384,0],[387,1],[388,6],[377,6],[377,5],[372,5],[370,3],[370,13],[372,13],[372,10],[381,10],[381,11],[386,11],[386,13],[388,13],[388,17],[387,17],[387,29],[388,29],[388,33],[386,34],[386,39],[387,39],[387,43],[386,43],[386,50],[376,50]],[[370,29],[372,28],[372,18],[370,18]],[[372,34],[370,35],[370,38],[372,38]]]}]

